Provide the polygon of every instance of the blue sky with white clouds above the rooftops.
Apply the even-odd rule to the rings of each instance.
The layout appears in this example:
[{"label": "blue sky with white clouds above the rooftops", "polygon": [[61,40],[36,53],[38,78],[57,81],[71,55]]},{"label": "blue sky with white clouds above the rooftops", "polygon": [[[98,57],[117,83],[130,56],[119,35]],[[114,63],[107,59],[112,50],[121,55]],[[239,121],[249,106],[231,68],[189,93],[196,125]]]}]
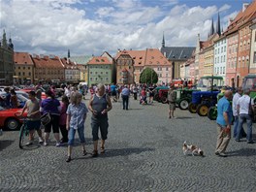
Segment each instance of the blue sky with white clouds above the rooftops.
[{"label": "blue sky with white clouds above the rooftops", "polygon": [[[0,34],[16,51],[37,54],[115,55],[120,49],[195,47],[211,18],[225,29],[251,0],[1,0]],[[215,25],[215,23],[214,23]]]}]

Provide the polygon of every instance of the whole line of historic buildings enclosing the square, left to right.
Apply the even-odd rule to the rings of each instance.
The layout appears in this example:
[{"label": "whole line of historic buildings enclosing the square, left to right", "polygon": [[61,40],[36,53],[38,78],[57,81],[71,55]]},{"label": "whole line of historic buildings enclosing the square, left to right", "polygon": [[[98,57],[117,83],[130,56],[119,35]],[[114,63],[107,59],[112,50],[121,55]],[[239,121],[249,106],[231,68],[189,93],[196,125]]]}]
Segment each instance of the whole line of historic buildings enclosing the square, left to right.
[{"label": "whole line of historic buildings enclosing the square, left to right", "polygon": [[256,73],[256,1],[243,4],[225,31],[220,28],[219,15],[215,29],[212,19],[208,40],[198,35],[195,48],[166,47],[163,36],[161,48],[117,50],[115,56],[107,51],[100,56],[70,56],[68,51],[67,57],[59,57],[15,52],[5,32],[0,45],[1,83],[138,83],[146,67],[157,73],[159,83],[174,79],[196,83],[215,75],[223,77],[224,84],[240,86],[246,75]]}]

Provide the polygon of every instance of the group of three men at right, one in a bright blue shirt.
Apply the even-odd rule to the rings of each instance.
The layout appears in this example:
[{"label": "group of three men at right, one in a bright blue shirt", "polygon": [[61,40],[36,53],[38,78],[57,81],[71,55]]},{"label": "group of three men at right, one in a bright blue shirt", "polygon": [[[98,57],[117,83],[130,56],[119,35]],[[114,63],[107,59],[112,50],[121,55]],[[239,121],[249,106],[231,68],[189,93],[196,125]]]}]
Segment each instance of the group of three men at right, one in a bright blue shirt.
[{"label": "group of three men at right, one in a bright blue shirt", "polygon": [[[217,144],[215,154],[226,157],[226,149],[231,140],[231,126],[234,116],[233,137],[236,142],[241,138],[246,138],[247,144],[254,144],[252,139],[252,116],[250,109],[254,110],[254,102],[249,97],[250,89],[242,90],[238,88],[237,93],[233,96],[231,90],[226,90],[217,104]],[[230,104],[232,101],[232,106]],[[247,124],[247,131],[243,130],[243,123]]]}]

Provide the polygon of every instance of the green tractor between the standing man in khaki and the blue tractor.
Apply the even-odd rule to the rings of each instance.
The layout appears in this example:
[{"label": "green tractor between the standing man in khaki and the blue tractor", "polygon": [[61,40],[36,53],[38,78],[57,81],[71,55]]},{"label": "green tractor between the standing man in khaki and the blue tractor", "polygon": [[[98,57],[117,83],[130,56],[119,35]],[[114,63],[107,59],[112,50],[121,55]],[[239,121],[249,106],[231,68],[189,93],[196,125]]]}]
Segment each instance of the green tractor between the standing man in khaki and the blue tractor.
[{"label": "green tractor between the standing man in khaki and the blue tractor", "polygon": [[180,110],[187,110],[189,103],[192,101],[192,92],[200,91],[198,89],[176,89],[176,105]]}]

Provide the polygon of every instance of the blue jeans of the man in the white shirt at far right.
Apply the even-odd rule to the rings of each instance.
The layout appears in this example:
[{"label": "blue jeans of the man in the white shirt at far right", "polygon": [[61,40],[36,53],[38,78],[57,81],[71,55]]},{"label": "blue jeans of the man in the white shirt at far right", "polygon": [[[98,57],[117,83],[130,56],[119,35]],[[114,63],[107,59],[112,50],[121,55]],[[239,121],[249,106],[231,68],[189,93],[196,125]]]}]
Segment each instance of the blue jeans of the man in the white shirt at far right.
[{"label": "blue jeans of the man in the white shirt at far right", "polygon": [[240,140],[241,138],[241,129],[242,129],[242,124],[243,122],[246,121],[247,124],[247,142],[252,141],[252,119],[248,114],[240,114],[240,119],[239,119],[239,129],[238,129],[238,134],[236,137],[236,140]]}]

